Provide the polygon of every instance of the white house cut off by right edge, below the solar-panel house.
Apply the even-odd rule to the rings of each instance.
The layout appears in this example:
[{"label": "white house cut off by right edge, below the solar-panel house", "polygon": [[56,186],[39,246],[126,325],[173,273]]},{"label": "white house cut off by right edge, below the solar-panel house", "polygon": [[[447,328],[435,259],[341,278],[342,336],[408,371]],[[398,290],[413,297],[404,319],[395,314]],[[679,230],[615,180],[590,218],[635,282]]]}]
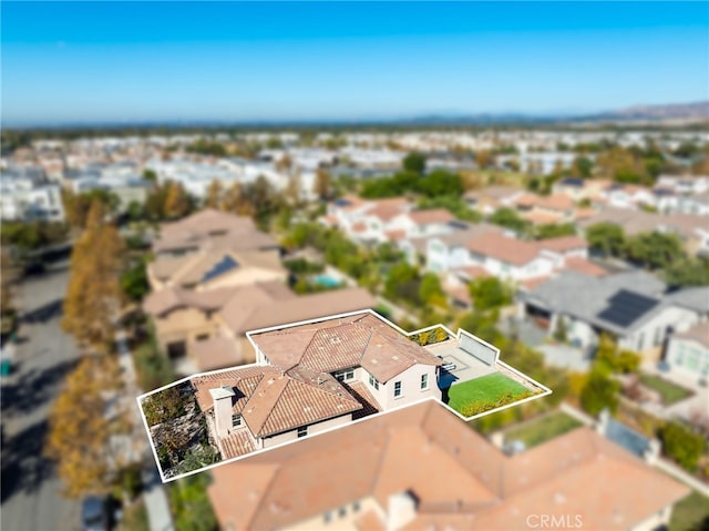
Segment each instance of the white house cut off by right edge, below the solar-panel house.
[{"label": "white house cut off by right edge, below the solar-panel house", "polygon": [[664,359],[670,370],[707,381],[709,378],[709,321],[671,334]]}]

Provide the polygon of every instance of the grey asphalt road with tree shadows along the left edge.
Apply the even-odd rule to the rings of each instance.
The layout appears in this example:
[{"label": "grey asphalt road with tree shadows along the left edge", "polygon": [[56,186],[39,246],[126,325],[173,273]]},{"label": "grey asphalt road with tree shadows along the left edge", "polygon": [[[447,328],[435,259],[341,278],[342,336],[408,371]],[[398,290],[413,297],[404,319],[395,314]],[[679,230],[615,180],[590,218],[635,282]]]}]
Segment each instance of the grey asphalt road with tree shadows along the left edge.
[{"label": "grey asphalt road with tree shadows along the left edge", "polygon": [[21,315],[16,370],[2,378],[3,531],[80,529],[80,501],[61,496],[62,484],[51,461],[42,457],[47,416],[75,366],[73,340],[60,328],[68,264],[53,265],[27,278],[16,292]]}]

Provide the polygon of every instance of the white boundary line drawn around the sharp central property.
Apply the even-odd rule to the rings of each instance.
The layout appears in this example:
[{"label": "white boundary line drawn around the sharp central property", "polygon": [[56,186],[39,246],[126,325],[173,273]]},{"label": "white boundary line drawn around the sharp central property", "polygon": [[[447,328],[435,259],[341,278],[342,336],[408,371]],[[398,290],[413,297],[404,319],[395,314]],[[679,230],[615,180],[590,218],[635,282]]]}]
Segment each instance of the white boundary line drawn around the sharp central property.
[{"label": "white boundary line drawn around the sharp central property", "polygon": [[219,461],[219,462],[215,462],[213,464],[208,464],[207,467],[203,467],[203,468],[199,468],[199,469],[196,469],[196,470],[191,470],[189,472],[185,472],[185,473],[182,473],[179,476],[175,476],[174,478],[167,478],[166,479],[165,474],[163,472],[163,468],[161,467],[160,459],[157,458],[157,450],[155,449],[155,443],[153,441],[153,438],[151,437],[151,429],[150,429],[150,426],[147,425],[147,419],[145,418],[145,412],[143,411],[142,400],[144,400],[145,398],[150,397],[151,395],[155,395],[156,392],[163,391],[163,390],[168,389],[171,387],[178,386],[181,384],[184,384],[185,381],[189,381],[193,378],[198,378],[201,376],[207,376],[207,375],[216,375],[216,374],[219,374],[219,372],[228,372],[228,371],[232,371],[232,370],[235,370],[235,369],[245,368],[245,367],[256,367],[256,366],[263,367],[263,365],[259,365],[259,364],[247,364],[247,365],[239,365],[239,366],[236,366],[236,367],[230,367],[230,368],[227,368],[227,369],[216,369],[216,370],[208,370],[208,371],[205,371],[205,372],[198,372],[196,375],[187,376],[187,377],[182,378],[182,379],[179,379],[177,381],[173,381],[171,384],[167,384],[166,386],[158,387],[157,389],[153,389],[152,391],[144,392],[143,395],[140,395],[138,397],[135,398],[135,400],[137,401],[138,410],[141,411],[141,417],[143,418],[143,426],[145,427],[145,432],[147,435],[147,439],[148,439],[148,442],[151,445],[151,450],[153,451],[153,458],[155,459],[155,464],[157,464],[157,470],[160,472],[160,478],[163,481],[163,483],[168,483],[171,481],[175,481],[175,480],[181,479],[181,478],[186,478],[187,476],[192,476],[192,474],[195,474],[195,473],[198,473],[198,472],[204,472],[205,470],[210,470],[210,469],[213,469],[215,467],[219,467],[222,464],[226,464],[226,463],[229,463],[229,462],[234,462],[234,461],[238,461],[238,460],[242,460],[242,459],[249,458],[251,456],[256,456],[258,453],[264,453],[264,452],[267,452],[267,451],[270,451],[270,450],[275,450],[276,448],[281,448],[281,447],[285,447],[285,446],[288,446],[288,445],[292,445],[295,442],[300,442],[301,440],[309,439],[311,437],[319,437],[319,436],[321,436],[323,433],[328,433],[330,431],[335,431],[335,430],[339,430],[339,429],[342,429],[342,428],[347,428],[348,426],[352,426],[352,425],[356,425],[356,423],[359,423],[359,422],[362,422],[362,421],[367,421],[367,420],[370,420],[370,419],[373,419],[373,418],[377,418],[377,417],[380,417],[380,416],[383,416],[383,415],[388,415],[388,413],[398,411],[400,409],[410,408],[412,406],[415,406],[415,405],[419,405],[419,404],[423,404],[423,402],[427,402],[427,401],[434,401],[436,404],[440,404],[441,406],[443,406],[445,409],[451,411],[453,415],[455,415],[460,419],[469,422],[471,420],[475,420],[475,419],[479,419],[479,418],[484,417],[486,415],[491,415],[491,413],[495,413],[497,411],[502,411],[502,410],[511,408],[513,406],[518,406],[518,405],[522,405],[522,404],[525,404],[525,402],[528,402],[528,401],[532,401],[532,400],[536,400],[538,398],[546,397],[546,396],[548,396],[548,395],[551,395],[553,392],[552,389],[549,389],[548,387],[540,384],[538,381],[536,381],[533,378],[530,378],[525,374],[520,372],[517,369],[508,366],[504,361],[500,361],[500,349],[499,348],[490,345],[487,341],[482,340],[481,338],[474,336],[473,334],[471,334],[471,333],[469,333],[466,330],[463,330],[463,329],[459,328],[458,334],[453,334],[453,331],[449,327],[446,327],[445,325],[431,325],[431,326],[427,326],[425,328],[420,328],[420,329],[414,330],[414,331],[405,331],[404,329],[400,328],[399,326],[397,326],[395,324],[393,324],[392,321],[390,321],[386,317],[379,315],[377,312],[374,312],[372,309],[363,309],[363,310],[360,309],[360,310],[356,310],[356,312],[348,312],[348,313],[345,313],[345,314],[336,314],[336,315],[327,316],[327,317],[318,317],[318,318],[315,318],[315,319],[301,320],[301,321],[298,321],[298,323],[290,323],[290,324],[287,324],[287,325],[269,326],[267,328],[259,328],[259,329],[256,329],[256,330],[247,331],[246,333],[246,338],[251,344],[254,349],[257,350],[258,347],[256,346],[256,343],[254,341],[254,339],[251,339],[251,336],[254,336],[254,335],[264,334],[264,333],[274,331],[274,330],[282,330],[282,329],[286,329],[286,328],[294,328],[296,326],[310,325],[310,324],[314,324],[314,323],[322,323],[325,320],[332,320],[332,319],[338,319],[338,318],[342,318],[342,317],[351,317],[351,316],[354,316],[354,315],[366,315],[366,314],[370,314],[370,315],[374,316],[376,318],[382,320],[383,323],[386,323],[387,325],[391,326],[397,331],[399,331],[400,334],[402,334],[403,336],[407,336],[407,337],[414,336],[414,335],[420,334],[422,331],[434,330],[436,328],[443,328],[443,330],[445,330],[445,333],[449,334],[450,337],[459,339],[459,340],[460,340],[460,338],[462,336],[467,336],[471,339],[473,339],[473,340],[475,340],[475,341],[477,341],[477,343],[484,345],[485,347],[491,348],[492,350],[495,351],[495,365],[502,365],[507,370],[510,370],[510,371],[516,374],[517,376],[524,378],[526,381],[532,382],[533,385],[535,385],[540,389],[543,389],[543,392],[540,392],[537,395],[524,398],[522,400],[518,400],[518,401],[515,401],[515,402],[512,402],[512,404],[507,404],[505,406],[501,406],[501,407],[495,408],[495,409],[491,409],[489,411],[483,411],[481,413],[473,415],[472,417],[463,417],[460,412],[455,411],[448,404],[443,404],[443,401],[439,400],[435,397],[428,397],[428,398],[423,398],[421,400],[415,400],[413,402],[407,404],[405,406],[394,407],[392,409],[388,409],[387,411],[380,411],[378,413],[373,413],[373,415],[369,415],[367,417],[362,417],[361,419],[358,419],[358,420],[352,420],[350,423],[345,425],[345,426],[336,426],[336,427],[332,427],[332,428],[328,428],[328,429],[319,431],[317,433],[310,433],[310,435],[307,435],[305,437],[300,437],[300,438],[298,438],[296,440],[292,440],[292,441],[281,442],[279,445],[275,445],[275,446],[269,447],[269,448],[263,448],[260,450],[254,450],[254,451],[248,452],[248,453],[246,453],[244,456],[238,456],[238,457],[235,457],[235,458],[232,458],[232,459],[227,459],[227,460],[223,460],[223,461]]}]

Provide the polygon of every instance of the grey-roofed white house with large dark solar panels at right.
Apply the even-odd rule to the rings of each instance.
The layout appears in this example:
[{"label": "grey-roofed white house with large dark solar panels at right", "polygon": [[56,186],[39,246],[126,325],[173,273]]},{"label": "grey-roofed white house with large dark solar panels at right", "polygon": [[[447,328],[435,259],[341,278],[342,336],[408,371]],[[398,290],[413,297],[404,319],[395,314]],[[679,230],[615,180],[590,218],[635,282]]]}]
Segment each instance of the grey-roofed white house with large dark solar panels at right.
[{"label": "grey-roofed white house with large dark solar panels at right", "polygon": [[520,312],[553,334],[564,320],[568,340],[593,350],[609,334],[623,349],[657,360],[665,339],[709,317],[709,287],[672,293],[644,270],[594,277],[565,270],[521,293]]}]

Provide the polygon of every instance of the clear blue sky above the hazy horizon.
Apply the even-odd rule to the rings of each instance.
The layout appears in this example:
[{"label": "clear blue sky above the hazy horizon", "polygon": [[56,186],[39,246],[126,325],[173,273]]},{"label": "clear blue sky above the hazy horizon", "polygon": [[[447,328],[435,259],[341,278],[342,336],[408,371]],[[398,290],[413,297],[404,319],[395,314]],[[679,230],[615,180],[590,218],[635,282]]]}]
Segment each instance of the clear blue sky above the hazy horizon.
[{"label": "clear blue sky above the hazy horizon", "polygon": [[709,99],[709,4],[8,2],[2,122],[589,112]]}]

